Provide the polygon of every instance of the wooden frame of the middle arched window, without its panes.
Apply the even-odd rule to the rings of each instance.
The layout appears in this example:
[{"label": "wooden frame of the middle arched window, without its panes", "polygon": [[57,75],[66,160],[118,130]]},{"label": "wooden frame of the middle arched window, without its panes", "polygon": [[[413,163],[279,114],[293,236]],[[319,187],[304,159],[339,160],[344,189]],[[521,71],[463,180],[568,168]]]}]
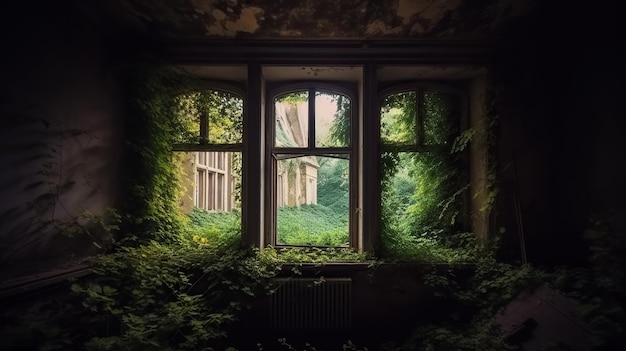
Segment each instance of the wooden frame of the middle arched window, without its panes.
[{"label": "wooden frame of the middle arched window, without its panes", "polygon": [[[311,112],[315,109],[315,93],[335,93],[345,95],[350,99],[350,125],[349,136],[350,140],[345,147],[322,147],[315,145],[315,139],[311,140],[310,136],[314,135],[315,130],[309,132],[307,138],[307,147],[277,147],[275,142],[275,105],[274,99],[280,95],[288,94],[290,92],[306,90],[309,92],[309,124],[311,121],[315,122],[315,116],[311,116]],[[313,155],[324,156],[330,154],[348,154],[349,155],[349,195],[348,195],[348,238],[349,243],[347,247],[359,248],[359,160],[361,158],[359,147],[359,90],[356,83],[350,83],[345,81],[317,81],[317,80],[300,80],[300,81],[273,81],[265,84],[266,98],[265,98],[265,145],[264,145],[264,164],[265,172],[265,188],[263,191],[263,203],[265,207],[264,226],[263,226],[263,238],[265,245],[272,245],[275,247],[345,247],[345,246],[322,246],[322,245],[286,245],[277,243],[277,170],[276,162],[274,158],[275,153],[280,154],[293,154],[296,155]],[[313,94],[311,94],[313,92]],[[309,125],[309,130],[311,126]]]}]

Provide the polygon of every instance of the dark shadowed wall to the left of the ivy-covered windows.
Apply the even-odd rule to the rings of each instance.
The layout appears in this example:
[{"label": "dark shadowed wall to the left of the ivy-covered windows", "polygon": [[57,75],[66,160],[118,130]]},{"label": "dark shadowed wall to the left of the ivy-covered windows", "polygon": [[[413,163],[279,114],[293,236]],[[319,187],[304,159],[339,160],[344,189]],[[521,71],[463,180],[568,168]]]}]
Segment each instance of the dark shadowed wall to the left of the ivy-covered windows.
[{"label": "dark shadowed wall to the left of the ivy-covered windows", "polygon": [[0,272],[6,277],[93,252],[93,238],[58,233],[84,210],[97,215],[115,206],[123,128],[96,17],[59,1],[14,5],[0,19]]}]

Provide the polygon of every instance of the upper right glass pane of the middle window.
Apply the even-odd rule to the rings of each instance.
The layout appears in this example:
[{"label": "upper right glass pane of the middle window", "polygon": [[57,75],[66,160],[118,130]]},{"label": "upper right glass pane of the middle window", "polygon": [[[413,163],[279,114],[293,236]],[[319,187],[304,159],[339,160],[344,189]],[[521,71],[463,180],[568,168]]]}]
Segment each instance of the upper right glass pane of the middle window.
[{"label": "upper right glass pane of the middle window", "polygon": [[341,94],[315,94],[315,146],[345,147],[350,144],[350,98]]}]

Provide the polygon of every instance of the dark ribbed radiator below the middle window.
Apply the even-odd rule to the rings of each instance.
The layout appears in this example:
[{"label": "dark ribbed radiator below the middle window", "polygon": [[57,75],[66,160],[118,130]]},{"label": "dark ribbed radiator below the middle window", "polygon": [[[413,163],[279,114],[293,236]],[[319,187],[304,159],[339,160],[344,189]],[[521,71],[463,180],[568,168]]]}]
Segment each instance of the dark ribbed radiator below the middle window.
[{"label": "dark ribbed radiator below the middle window", "polygon": [[278,278],[270,298],[270,325],[276,329],[349,328],[352,279]]}]

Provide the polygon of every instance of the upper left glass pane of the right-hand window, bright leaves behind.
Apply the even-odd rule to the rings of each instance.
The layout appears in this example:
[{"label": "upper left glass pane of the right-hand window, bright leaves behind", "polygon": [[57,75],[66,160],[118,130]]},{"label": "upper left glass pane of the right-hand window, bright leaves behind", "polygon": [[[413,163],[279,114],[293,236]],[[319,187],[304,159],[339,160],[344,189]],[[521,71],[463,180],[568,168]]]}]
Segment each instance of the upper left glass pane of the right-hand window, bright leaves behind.
[{"label": "upper left glass pane of the right-hand window, bright leaves behind", "polygon": [[415,92],[387,95],[380,115],[380,138],[385,144],[413,145],[415,136]]}]

